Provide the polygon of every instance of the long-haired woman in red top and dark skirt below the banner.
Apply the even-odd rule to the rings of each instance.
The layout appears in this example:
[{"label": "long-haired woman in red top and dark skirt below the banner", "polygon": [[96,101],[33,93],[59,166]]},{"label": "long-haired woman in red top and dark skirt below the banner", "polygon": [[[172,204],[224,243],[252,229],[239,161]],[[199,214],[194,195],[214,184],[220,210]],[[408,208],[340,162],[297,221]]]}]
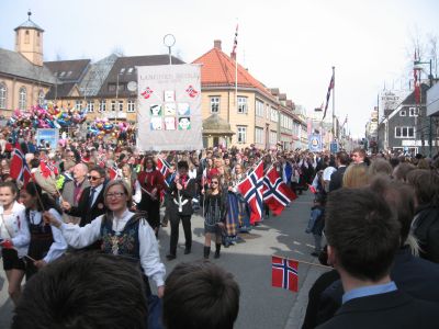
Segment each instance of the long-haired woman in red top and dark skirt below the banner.
[{"label": "long-haired woman in red top and dark skirt below the banner", "polygon": [[165,180],[151,157],[145,158],[144,171],[137,175],[142,190],[142,200],[137,209],[148,213],[148,223],[154,229],[156,237],[160,227],[160,194],[165,188]]}]

